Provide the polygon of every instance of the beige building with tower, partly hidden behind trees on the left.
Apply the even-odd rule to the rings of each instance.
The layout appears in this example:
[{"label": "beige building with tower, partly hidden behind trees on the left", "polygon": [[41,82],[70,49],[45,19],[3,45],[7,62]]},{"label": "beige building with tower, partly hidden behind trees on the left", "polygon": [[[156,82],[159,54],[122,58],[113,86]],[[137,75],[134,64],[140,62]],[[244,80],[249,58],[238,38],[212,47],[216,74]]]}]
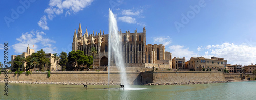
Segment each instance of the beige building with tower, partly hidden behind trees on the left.
[{"label": "beige building with tower, partly hidden behind trees on the left", "polygon": [[[29,45],[28,45],[28,47],[27,47],[27,52],[23,52],[22,54],[20,54],[20,55],[12,55],[11,56],[11,62],[12,62],[12,66],[13,66],[13,64],[14,64],[14,59],[15,59],[15,57],[17,57],[17,56],[19,56],[20,58],[22,58],[22,57],[24,57],[24,58],[27,58],[28,56],[31,56],[32,55],[32,53],[34,53],[35,52],[35,50],[34,49],[30,49],[29,48]],[[57,62],[58,61],[55,61],[54,62],[54,58],[51,58],[52,56],[54,56],[52,53],[46,53],[46,58],[49,58],[49,60],[50,60],[50,62],[51,62],[51,64],[52,64],[52,66],[51,67],[45,67],[45,69],[50,69],[50,70],[52,70],[52,71],[57,71],[57,70],[61,70],[61,68],[59,68],[59,66],[58,66],[58,64],[57,64]],[[24,63],[24,69],[26,69],[26,65],[27,65],[27,62],[25,62]],[[46,65],[45,65],[46,66]],[[34,69],[33,69],[34,70]],[[45,71],[45,70],[44,70]]]}]

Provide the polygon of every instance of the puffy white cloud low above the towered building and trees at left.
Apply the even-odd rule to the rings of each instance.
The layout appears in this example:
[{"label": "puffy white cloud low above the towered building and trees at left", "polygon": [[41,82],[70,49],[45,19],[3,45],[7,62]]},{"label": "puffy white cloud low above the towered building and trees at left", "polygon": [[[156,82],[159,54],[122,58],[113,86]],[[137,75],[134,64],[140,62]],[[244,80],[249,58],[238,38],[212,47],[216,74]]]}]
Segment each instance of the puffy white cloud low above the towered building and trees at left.
[{"label": "puffy white cloud low above the towered building and trees at left", "polygon": [[30,45],[30,48],[35,49],[35,51],[44,49],[46,53],[56,52],[56,47],[52,46],[52,43],[55,43],[55,41],[49,38],[44,38],[44,35],[46,35],[46,33],[38,30],[23,33],[20,38],[16,39],[18,43],[12,45],[14,52],[19,54],[26,52],[28,44]]}]

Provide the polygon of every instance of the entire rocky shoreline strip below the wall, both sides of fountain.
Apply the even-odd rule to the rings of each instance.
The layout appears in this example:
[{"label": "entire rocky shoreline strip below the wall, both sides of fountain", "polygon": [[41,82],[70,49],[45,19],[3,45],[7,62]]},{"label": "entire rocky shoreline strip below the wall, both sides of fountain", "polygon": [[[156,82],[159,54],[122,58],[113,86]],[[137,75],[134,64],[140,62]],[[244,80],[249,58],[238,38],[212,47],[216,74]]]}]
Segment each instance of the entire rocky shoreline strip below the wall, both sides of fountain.
[{"label": "entire rocky shoreline strip below the wall, both sides of fountain", "polygon": [[[173,82],[173,83],[147,83],[141,85],[193,85],[193,84],[210,84],[210,83],[226,83],[230,81],[211,81],[211,82]],[[0,81],[0,83],[5,83]],[[25,84],[56,84],[56,85],[108,85],[108,83],[82,83],[82,82],[28,82],[28,81],[8,81],[8,83],[25,83]],[[134,83],[129,83],[134,85]],[[120,83],[110,83],[110,85],[120,85]],[[139,85],[139,84],[136,84]]]}]

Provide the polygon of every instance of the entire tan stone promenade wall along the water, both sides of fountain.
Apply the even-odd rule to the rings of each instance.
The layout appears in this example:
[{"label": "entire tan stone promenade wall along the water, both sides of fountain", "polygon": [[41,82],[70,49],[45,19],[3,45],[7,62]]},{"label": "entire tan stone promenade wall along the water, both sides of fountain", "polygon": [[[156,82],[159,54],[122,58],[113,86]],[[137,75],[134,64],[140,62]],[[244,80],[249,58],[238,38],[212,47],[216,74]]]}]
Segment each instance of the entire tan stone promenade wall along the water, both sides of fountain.
[{"label": "entire tan stone promenade wall along the water, both sides of fountain", "polygon": [[[249,74],[251,78],[254,76]],[[118,71],[110,72],[110,83],[120,83],[121,73]],[[245,74],[223,73],[208,71],[145,71],[145,72],[127,72],[127,79],[132,84],[147,83],[184,83],[184,82],[214,82],[227,81],[229,79],[241,80]],[[4,72],[0,74],[0,80],[5,78]],[[247,79],[247,78],[246,78]],[[51,72],[47,77],[47,72],[32,72],[26,75],[8,73],[8,81],[28,81],[28,82],[78,82],[78,83],[108,83],[108,72],[99,71],[66,71]]]}]

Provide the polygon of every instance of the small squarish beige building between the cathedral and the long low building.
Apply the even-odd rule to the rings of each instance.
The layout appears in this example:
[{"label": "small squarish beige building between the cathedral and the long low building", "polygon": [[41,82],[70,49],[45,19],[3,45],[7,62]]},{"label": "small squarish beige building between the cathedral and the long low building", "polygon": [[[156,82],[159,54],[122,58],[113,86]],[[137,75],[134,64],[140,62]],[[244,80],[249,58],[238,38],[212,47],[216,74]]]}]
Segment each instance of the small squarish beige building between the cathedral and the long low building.
[{"label": "small squarish beige building between the cathedral and the long low building", "polygon": [[185,57],[183,57],[183,58],[174,57],[172,59],[172,68],[173,69],[185,69],[185,65],[186,65]]}]

